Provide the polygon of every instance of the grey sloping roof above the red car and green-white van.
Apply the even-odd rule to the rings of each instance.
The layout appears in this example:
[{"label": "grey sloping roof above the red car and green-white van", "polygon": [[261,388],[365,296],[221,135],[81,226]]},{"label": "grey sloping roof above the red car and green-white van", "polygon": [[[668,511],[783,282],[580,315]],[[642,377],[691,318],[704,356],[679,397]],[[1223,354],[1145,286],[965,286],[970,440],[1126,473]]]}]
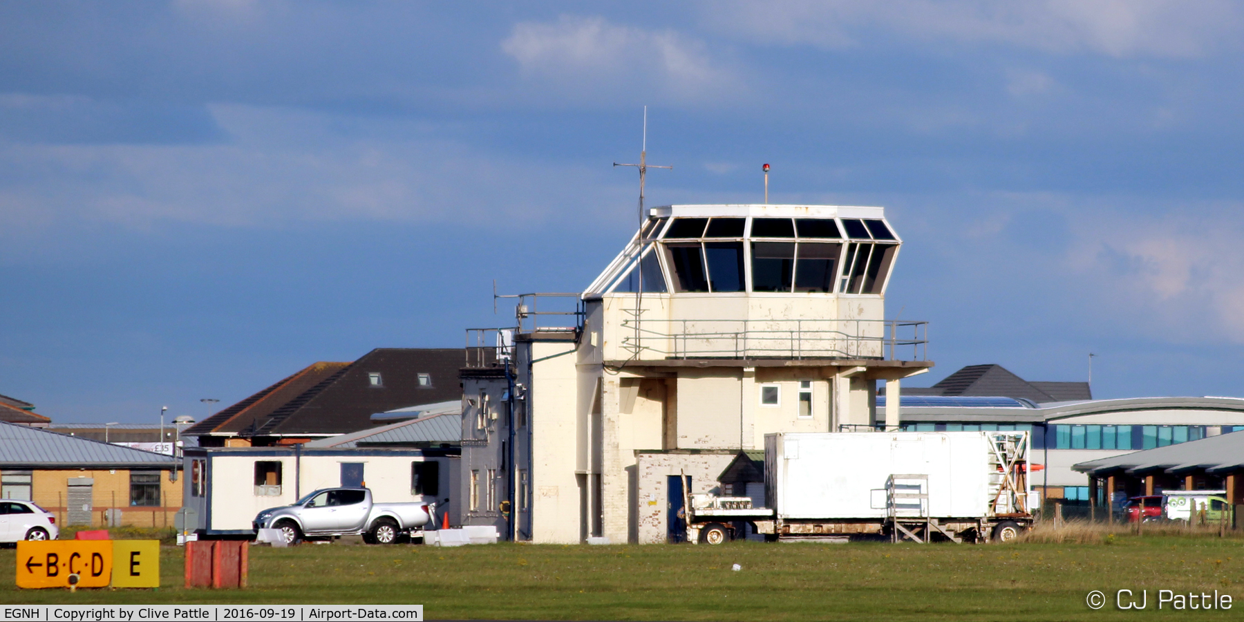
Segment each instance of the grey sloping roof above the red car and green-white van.
[{"label": "grey sloping roof above the red car and green-white van", "polygon": [[1095,476],[1118,471],[1131,474],[1162,471],[1173,475],[1193,470],[1233,471],[1244,468],[1244,433],[1233,432],[1177,445],[1132,452],[1080,463],[1071,468]]}]

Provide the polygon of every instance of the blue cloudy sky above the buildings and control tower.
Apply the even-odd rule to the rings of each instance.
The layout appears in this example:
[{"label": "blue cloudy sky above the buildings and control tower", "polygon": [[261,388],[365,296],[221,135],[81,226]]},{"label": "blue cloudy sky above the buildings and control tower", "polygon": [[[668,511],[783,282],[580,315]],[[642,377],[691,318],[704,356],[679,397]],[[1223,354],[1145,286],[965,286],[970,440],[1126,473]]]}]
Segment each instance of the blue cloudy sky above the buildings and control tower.
[{"label": "blue cloudy sky above the buildings and control tower", "polygon": [[[648,204],[882,205],[887,316],[1244,396],[1244,5],[0,4],[0,394],[202,419],[581,291]],[[202,399],[219,399],[214,408]]]}]

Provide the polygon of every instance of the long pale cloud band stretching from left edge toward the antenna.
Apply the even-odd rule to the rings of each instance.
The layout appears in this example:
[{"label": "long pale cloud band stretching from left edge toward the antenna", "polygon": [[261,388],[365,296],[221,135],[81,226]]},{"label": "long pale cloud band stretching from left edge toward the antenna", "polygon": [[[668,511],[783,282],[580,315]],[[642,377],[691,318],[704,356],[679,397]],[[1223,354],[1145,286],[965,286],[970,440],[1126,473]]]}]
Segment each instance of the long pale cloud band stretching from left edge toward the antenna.
[{"label": "long pale cloud band stretching from left edge toward the antenna", "polygon": [[[341,219],[539,223],[601,207],[600,170],[495,156],[381,122],[383,138],[342,133],[328,114],[215,106],[230,136],[204,144],[0,143],[0,231],[67,221],[280,228]],[[412,127],[414,126],[414,127]],[[351,132],[358,131],[356,124]],[[367,133],[366,131],[363,132]],[[601,208],[605,209],[605,208]]]}]

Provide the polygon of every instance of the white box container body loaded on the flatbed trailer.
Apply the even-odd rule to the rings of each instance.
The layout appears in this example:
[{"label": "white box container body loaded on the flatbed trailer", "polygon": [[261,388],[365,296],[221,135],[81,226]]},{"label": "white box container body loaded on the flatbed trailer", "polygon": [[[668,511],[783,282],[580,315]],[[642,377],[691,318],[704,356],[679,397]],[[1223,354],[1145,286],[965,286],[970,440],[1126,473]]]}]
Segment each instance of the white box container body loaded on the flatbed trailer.
[{"label": "white box container body loaded on the flatbed trailer", "polygon": [[927,475],[899,481],[928,494],[923,515],[990,516],[1004,478],[991,443],[986,432],[766,434],[765,504],[780,520],[884,520],[891,475]]}]

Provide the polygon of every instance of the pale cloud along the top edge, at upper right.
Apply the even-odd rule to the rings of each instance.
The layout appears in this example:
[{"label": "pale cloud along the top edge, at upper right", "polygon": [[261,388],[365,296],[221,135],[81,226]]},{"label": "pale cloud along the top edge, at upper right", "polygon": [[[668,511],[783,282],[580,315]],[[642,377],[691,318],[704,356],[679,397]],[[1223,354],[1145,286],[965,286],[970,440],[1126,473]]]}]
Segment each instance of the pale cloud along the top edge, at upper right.
[{"label": "pale cloud along the top edge, at upper right", "polygon": [[784,45],[858,45],[868,29],[924,41],[988,42],[1056,53],[1189,57],[1235,46],[1240,7],[1224,0],[794,0],[705,2],[704,20]]}]

